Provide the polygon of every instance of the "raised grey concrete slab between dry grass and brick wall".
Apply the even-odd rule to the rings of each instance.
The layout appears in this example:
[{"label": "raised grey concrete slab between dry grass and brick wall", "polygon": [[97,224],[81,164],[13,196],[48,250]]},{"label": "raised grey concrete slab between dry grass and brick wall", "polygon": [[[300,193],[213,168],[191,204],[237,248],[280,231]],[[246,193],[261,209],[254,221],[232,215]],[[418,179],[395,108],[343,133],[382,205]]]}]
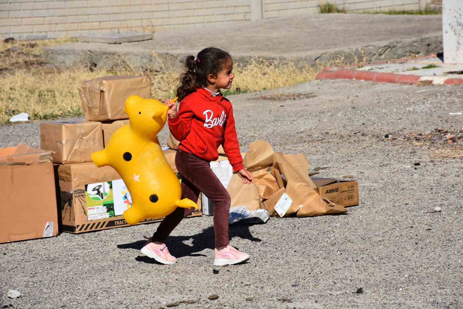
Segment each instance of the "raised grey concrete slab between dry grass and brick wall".
[{"label": "raised grey concrete slab between dry grass and brick wall", "polygon": [[[440,15],[300,14],[285,18],[232,22],[153,34],[153,40],[107,45],[77,42],[45,50],[57,66],[93,63],[112,66],[123,57],[134,69],[162,70],[160,62],[180,65],[202,48],[217,46],[246,64],[252,57],[296,64],[378,61],[442,52]],[[155,55],[153,55],[153,52]]]}]

